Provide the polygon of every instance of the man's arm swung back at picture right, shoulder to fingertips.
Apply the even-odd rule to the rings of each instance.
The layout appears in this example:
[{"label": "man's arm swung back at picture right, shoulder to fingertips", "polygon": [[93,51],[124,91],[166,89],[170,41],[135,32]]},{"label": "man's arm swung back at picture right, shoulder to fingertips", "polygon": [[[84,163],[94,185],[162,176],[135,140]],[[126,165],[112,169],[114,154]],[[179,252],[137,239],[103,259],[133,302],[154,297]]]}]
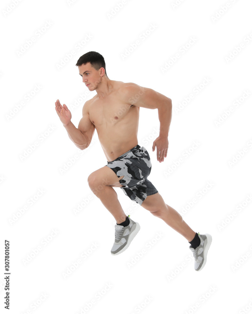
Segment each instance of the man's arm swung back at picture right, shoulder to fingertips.
[{"label": "man's arm swung back at picture right, shoulder to fingertips", "polygon": [[153,142],[152,151],[156,147],[157,160],[159,162],[164,161],[169,145],[168,133],[172,120],[172,100],[151,88],[141,87],[134,83],[123,87],[121,91],[123,102],[137,107],[158,110],[160,130],[159,136]]}]

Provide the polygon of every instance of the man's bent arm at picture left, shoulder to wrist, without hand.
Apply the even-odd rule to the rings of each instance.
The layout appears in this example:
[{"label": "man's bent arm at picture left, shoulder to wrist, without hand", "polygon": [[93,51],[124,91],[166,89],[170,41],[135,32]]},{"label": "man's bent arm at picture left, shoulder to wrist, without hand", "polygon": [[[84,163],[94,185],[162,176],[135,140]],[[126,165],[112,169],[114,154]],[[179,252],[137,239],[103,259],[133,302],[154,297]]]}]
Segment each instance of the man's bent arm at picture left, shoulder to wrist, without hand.
[{"label": "man's bent arm at picture left, shoulder to wrist, without hand", "polygon": [[86,101],[83,106],[82,118],[80,119],[78,128],[76,128],[71,121],[68,124],[63,124],[69,138],[82,150],[88,148],[95,133],[95,126],[89,119],[87,108],[88,101]]}]

